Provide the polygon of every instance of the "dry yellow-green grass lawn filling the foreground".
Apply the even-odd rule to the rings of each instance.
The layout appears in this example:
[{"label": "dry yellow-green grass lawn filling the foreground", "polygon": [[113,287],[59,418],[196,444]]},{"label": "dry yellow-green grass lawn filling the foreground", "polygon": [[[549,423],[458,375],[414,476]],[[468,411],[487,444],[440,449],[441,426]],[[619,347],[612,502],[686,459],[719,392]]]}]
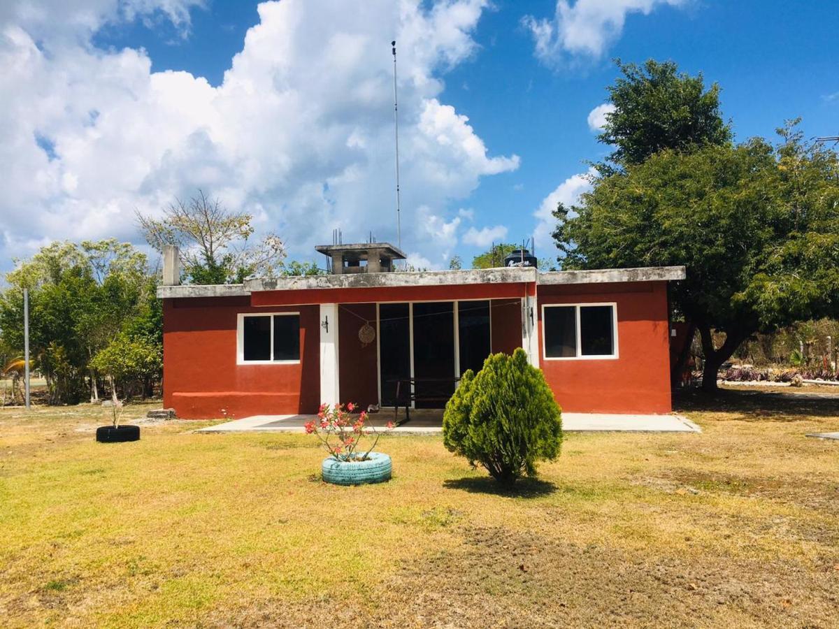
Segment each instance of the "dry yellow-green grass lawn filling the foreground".
[{"label": "dry yellow-green grass lawn filling the foreground", "polygon": [[440,436],[338,487],[305,435],[0,410],[0,624],[836,626],[839,442],[804,435],[839,399],[680,408],[702,434],[567,434],[515,495]]}]

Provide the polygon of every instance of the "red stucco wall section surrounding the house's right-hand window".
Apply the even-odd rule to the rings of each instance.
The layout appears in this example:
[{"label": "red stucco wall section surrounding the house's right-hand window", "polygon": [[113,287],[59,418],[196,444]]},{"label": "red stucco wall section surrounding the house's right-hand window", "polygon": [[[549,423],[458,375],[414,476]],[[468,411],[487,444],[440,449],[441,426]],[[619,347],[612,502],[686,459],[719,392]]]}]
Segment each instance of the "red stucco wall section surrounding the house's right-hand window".
[{"label": "red stucco wall section surrounding the house's right-hand window", "polygon": [[[541,285],[539,366],[557,402],[573,413],[670,413],[667,284]],[[618,359],[545,360],[542,305],[616,302]]]}]

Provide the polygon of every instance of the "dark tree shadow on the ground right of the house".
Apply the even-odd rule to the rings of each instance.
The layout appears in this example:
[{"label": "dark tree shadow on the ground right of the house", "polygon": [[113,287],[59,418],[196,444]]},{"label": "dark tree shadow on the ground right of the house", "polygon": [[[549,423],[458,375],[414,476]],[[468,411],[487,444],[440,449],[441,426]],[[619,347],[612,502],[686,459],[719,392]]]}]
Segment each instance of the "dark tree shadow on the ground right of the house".
[{"label": "dark tree shadow on the ground right of the house", "polygon": [[676,412],[733,413],[732,418],[746,421],[839,417],[839,398],[820,393],[680,389],[673,393],[673,405]]}]

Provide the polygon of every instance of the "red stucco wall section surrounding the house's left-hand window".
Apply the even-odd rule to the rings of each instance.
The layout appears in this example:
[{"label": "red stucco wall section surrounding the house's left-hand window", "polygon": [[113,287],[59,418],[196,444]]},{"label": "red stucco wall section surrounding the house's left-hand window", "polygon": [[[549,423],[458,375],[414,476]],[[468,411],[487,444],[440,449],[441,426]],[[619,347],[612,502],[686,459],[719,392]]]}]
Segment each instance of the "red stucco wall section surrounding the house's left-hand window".
[{"label": "red stucco wall section surrounding the house's left-hand window", "polygon": [[[164,405],[181,418],[316,413],[318,306],[252,308],[250,299],[164,299]],[[237,314],[300,312],[300,364],[237,365]]]}]

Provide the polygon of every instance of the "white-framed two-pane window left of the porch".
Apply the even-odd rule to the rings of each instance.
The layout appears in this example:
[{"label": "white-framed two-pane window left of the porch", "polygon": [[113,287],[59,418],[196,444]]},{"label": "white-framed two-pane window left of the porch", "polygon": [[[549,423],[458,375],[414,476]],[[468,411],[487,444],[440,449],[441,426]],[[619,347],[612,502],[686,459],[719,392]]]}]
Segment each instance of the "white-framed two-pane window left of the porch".
[{"label": "white-framed two-pane window left of the porch", "polygon": [[300,313],[240,314],[239,360],[300,362]]}]

